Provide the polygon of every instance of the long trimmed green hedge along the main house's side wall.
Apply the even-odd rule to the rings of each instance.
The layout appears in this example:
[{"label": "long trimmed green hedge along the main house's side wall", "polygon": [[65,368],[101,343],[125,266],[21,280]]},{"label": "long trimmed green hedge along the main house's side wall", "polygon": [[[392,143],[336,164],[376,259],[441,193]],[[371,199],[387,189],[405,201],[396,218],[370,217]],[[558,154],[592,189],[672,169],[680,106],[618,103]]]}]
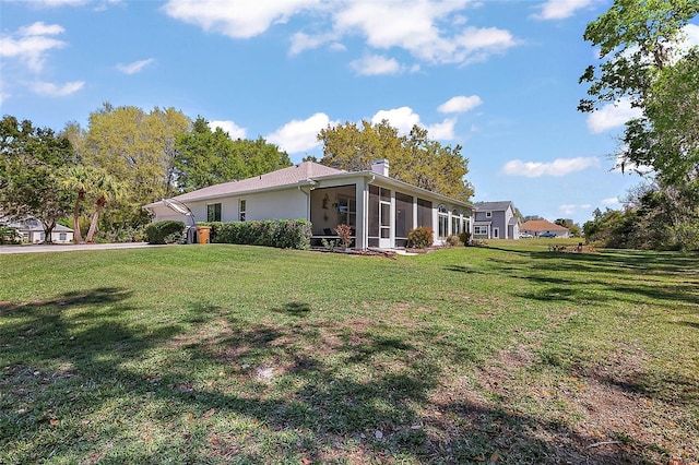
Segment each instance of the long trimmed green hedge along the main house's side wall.
[{"label": "long trimmed green hedge along the main house's side wall", "polygon": [[199,223],[211,226],[211,242],[265,246],[280,249],[310,248],[311,224],[305,219]]}]

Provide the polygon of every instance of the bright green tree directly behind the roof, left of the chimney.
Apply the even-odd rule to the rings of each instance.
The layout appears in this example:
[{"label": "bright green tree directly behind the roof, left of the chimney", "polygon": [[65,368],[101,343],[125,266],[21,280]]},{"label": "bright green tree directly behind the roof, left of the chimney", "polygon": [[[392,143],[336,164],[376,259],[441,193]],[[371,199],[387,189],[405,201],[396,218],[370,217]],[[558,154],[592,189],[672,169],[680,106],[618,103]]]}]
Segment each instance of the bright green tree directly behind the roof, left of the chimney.
[{"label": "bright green tree directly behind the roof, left of the chimney", "polygon": [[288,155],[264,139],[232,140],[221,128],[211,130],[198,117],[191,132],[176,143],[175,174],[178,192],[250,178],[292,165]]}]

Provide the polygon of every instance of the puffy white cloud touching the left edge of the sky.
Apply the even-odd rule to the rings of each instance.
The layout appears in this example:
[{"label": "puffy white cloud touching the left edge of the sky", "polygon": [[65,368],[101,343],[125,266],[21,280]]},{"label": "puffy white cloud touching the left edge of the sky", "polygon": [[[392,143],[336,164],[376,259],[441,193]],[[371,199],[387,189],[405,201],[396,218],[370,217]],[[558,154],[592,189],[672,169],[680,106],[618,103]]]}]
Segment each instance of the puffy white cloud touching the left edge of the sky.
[{"label": "puffy white cloud touching the left edge of the sky", "polygon": [[16,58],[38,73],[49,50],[66,47],[64,41],[50,37],[63,32],[60,25],[44,22],[20,27],[14,34],[0,37],[0,57]]}]

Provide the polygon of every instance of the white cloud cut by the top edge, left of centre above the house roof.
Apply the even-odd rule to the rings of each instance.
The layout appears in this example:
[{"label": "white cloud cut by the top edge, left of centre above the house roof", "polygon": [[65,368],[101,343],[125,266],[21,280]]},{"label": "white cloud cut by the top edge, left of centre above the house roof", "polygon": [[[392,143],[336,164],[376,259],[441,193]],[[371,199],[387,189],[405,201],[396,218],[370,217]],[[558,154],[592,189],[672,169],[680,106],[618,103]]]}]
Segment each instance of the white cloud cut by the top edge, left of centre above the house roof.
[{"label": "white cloud cut by the top edge, left of centre above the house roof", "polygon": [[170,0],[163,10],[170,17],[208,32],[249,38],[320,3],[319,0]]}]

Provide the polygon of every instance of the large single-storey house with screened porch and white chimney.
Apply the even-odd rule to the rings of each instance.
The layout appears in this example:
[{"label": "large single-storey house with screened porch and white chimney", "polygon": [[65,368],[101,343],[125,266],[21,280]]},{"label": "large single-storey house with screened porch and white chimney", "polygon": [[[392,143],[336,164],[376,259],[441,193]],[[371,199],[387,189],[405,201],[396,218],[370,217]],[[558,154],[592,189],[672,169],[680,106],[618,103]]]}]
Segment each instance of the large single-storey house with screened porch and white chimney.
[{"label": "large single-storey house with screened porch and white chimney", "polygon": [[[471,231],[473,205],[389,177],[388,160],[371,170],[344,171],[313,162],[240,181],[210,186],[174,198],[199,222],[304,218],[312,224],[311,242],[334,238],[346,224],[356,249],[403,248],[416,227],[435,231],[435,243],[450,235]],[[167,199],[145,205],[154,222],[187,222],[182,212],[168,208]]]}]

